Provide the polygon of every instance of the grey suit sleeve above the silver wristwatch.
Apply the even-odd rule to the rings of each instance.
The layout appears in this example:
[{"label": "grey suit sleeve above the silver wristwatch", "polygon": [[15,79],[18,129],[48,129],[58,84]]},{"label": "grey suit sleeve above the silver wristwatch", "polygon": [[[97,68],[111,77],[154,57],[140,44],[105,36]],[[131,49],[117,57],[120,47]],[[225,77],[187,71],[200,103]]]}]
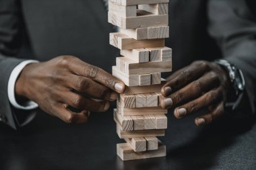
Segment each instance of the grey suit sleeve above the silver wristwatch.
[{"label": "grey suit sleeve above the silver wristwatch", "polygon": [[[255,9],[256,10],[256,9]],[[255,113],[256,19],[245,0],[209,0],[208,32],[216,40],[224,59],[243,71],[246,95]]]}]

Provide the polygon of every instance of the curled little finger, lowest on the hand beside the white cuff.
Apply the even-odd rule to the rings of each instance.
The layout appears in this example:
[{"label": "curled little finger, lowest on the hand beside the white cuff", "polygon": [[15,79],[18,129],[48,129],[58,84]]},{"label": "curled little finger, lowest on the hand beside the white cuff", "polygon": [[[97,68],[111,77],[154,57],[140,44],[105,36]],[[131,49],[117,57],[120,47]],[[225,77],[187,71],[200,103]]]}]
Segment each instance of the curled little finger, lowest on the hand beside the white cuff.
[{"label": "curled little finger, lowest on the hand beside the white cuff", "polygon": [[86,123],[90,114],[90,112],[87,110],[83,110],[79,113],[71,112],[69,109],[67,109],[67,105],[63,103],[55,105],[53,111],[55,112],[55,116],[69,124]]}]

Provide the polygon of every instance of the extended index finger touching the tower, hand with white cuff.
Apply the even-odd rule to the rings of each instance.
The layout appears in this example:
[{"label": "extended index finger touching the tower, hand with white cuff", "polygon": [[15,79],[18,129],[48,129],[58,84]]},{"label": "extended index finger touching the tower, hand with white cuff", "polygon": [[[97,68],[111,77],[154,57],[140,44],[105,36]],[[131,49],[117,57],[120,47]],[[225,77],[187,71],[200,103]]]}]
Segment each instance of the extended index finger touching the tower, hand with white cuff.
[{"label": "extended index finger touching the tower, hand with white cuff", "polygon": [[97,81],[98,83],[117,91],[117,93],[123,93],[123,91],[125,91],[125,84],[122,81],[113,75],[106,73],[106,71],[93,65],[89,65],[78,58],[73,60],[72,68],[76,75],[88,77],[89,79]]}]

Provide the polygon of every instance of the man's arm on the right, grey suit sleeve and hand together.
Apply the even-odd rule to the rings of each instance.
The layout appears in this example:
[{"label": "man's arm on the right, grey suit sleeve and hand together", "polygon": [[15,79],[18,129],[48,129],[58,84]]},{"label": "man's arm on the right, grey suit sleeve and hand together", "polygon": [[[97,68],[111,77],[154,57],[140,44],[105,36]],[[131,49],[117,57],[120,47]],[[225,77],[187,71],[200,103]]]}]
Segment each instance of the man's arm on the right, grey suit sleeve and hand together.
[{"label": "man's arm on the right, grey suit sleeve and hand together", "polygon": [[[255,112],[255,17],[243,0],[210,0],[208,17],[210,35],[220,45],[223,57],[243,71],[247,95]],[[195,118],[195,124],[209,124],[224,114],[228,94],[235,87],[230,78],[216,62],[195,61],[168,77],[162,87],[161,106],[174,108],[176,118],[203,110],[205,113]]]}]

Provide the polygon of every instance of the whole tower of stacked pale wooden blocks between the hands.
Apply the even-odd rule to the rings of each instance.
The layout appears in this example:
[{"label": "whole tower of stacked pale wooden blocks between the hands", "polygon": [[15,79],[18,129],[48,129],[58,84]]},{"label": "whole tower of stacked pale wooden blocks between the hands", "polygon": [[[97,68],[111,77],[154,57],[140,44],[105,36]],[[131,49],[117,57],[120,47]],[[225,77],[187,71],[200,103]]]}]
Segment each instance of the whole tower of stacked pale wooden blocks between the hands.
[{"label": "whole tower of stacked pale wooden blocks between the hands", "polygon": [[167,110],[160,108],[161,73],[172,71],[169,37],[169,0],[108,0],[108,22],[120,28],[110,33],[110,44],[121,50],[113,75],[127,85],[117,99],[114,119],[123,161],[166,156],[164,136]]}]

